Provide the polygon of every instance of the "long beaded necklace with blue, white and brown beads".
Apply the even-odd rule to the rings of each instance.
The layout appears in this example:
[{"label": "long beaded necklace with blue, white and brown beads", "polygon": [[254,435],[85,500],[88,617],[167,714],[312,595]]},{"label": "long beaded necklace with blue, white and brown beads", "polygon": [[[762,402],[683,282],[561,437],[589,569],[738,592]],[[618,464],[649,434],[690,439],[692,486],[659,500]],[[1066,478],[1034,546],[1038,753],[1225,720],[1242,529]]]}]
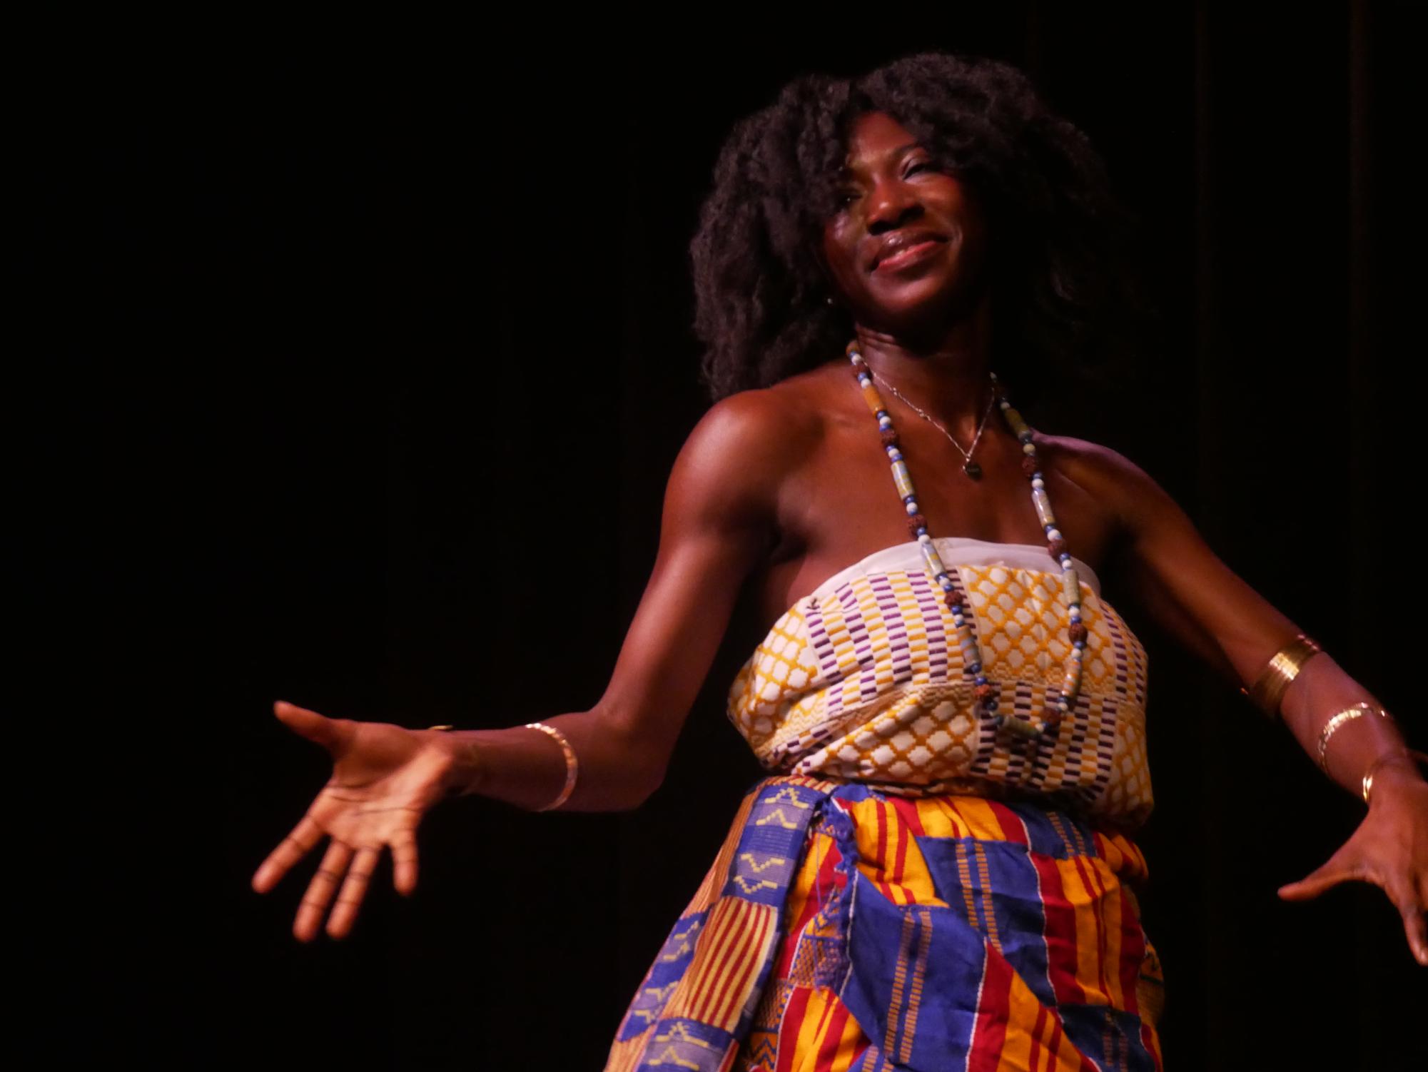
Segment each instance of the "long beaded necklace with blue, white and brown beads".
[{"label": "long beaded necklace with blue, white and brown beads", "polygon": [[972,635],[968,621],[971,608],[967,605],[967,597],[952,582],[947,567],[942,565],[942,560],[937,554],[932,537],[927,532],[927,518],[922,517],[917,505],[912,477],[907,470],[907,462],[902,460],[902,447],[898,443],[897,431],[892,428],[892,418],[883,403],[883,395],[878,394],[878,388],[873,384],[873,370],[868,368],[863,360],[863,354],[858,353],[857,340],[848,343],[847,355],[853,363],[853,375],[863,388],[863,400],[868,404],[868,408],[878,421],[878,430],[883,433],[883,448],[888,454],[888,461],[892,462],[892,481],[897,484],[904,507],[907,507],[908,531],[917,540],[927,572],[931,574],[942,590],[942,600],[947,602],[947,610],[952,612],[952,622],[957,625],[957,639],[962,652],[962,672],[972,681],[981,715],[992,719],[998,729],[1005,729],[1022,739],[1037,739],[1054,732],[1061,725],[1061,719],[1075,705],[1077,694],[1081,691],[1081,659],[1085,652],[1087,628],[1081,621],[1081,581],[1077,577],[1075,564],[1071,561],[1071,552],[1067,551],[1067,542],[1057,528],[1055,515],[1051,512],[1051,500],[1047,497],[1045,480],[1041,475],[1040,462],[1037,461],[1037,447],[1031,441],[1031,428],[1021,420],[1021,414],[1011,408],[1011,403],[1002,394],[997,374],[992,373],[991,384],[997,405],[1001,408],[1001,415],[1007,420],[1017,441],[1021,443],[1021,471],[1031,481],[1031,501],[1037,508],[1037,518],[1045,530],[1047,548],[1051,557],[1061,565],[1061,592],[1071,618],[1067,628],[1071,639],[1071,654],[1067,658],[1061,692],[1047,705],[1050,709],[1042,709],[1041,725],[1037,725],[1030,718],[1014,718],[997,711],[998,689],[982,672],[981,651],[977,647],[977,638]]}]

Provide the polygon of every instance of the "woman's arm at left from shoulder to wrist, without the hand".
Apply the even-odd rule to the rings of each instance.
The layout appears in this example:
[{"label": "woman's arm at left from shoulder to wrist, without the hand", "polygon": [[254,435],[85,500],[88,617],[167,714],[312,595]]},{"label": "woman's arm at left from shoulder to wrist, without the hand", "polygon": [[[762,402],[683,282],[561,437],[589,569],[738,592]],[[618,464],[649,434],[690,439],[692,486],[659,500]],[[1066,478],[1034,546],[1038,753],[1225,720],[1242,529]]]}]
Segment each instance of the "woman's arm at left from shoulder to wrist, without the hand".
[{"label": "woman's arm at left from shoulder to wrist, without the hand", "polygon": [[[763,393],[734,395],[705,414],[680,451],[654,570],[604,695],[588,711],[544,719],[578,761],[563,809],[628,809],[658,788],[738,590],[773,545],[778,465],[788,457],[784,420]],[[451,792],[538,808],[564,785],[564,754],[537,729],[447,737]]]}]

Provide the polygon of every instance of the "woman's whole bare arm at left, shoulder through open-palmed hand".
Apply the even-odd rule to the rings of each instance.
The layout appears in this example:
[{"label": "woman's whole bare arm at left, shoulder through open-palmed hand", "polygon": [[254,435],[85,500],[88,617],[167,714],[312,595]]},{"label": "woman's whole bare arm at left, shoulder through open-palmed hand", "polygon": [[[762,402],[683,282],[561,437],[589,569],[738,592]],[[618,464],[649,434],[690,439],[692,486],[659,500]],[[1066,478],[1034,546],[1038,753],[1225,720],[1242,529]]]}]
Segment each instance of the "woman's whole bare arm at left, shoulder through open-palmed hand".
[{"label": "woman's whole bare arm at left, shoulder through open-palmed hand", "polygon": [[[774,542],[780,467],[795,455],[787,427],[767,393],[750,391],[710,410],[680,451],[654,571],[610,685],[588,711],[545,719],[577,759],[563,806],[634,808],[664,778],[738,590]],[[333,757],[327,785],[253,875],[253,888],[267,892],[331,839],[293,925],[301,941],[316,936],[334,896],[327,932],[351,931],[384,848],[398,892],[416,889],[417,825],[443,797],[477,792],[534,809],[565,785],[564,748],[528,727],[447,734],[326,718],[284,702],[274,714]]]}]

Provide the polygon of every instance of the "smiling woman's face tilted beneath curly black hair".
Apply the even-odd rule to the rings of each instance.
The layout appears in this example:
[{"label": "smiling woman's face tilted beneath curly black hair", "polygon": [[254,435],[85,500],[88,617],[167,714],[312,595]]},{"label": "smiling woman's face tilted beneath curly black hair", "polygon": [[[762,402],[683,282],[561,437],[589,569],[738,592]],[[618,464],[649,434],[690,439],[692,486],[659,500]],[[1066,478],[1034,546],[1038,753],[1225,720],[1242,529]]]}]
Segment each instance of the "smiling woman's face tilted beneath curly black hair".
[{"label": "smiling woman's face tilted beneath curly black hair", "polygon": [[823,254],[858,323],[915,330],[971,310],[984,274],[982,213],[895,118],[857,118],[838,191]]}]

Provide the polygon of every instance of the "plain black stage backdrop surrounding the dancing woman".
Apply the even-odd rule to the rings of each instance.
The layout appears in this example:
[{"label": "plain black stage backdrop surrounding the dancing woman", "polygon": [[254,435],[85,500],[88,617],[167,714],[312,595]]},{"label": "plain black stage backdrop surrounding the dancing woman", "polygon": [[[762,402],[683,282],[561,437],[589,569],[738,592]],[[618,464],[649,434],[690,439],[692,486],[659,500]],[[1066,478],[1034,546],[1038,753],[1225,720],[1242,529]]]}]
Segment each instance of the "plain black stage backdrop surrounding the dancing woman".
[{"label": "plain black stage backdrop surrounding the dancing woman", "polygon": [[[758,777],[721,714],[747,651],[645,808],[444,805],[416,895],[384,862],[341,944],[290,935],[316,861],[248,888],[327,772],[270,705],[501,727],[600,695],[705,405],[695,211],[803,70],[991,54],[1090,134],[1162,330],[1048,431],[1145,467],[1422,745],[1409,6],[1061,9],[36,49],[7,410],[39,1052],[600,1066]],[[1170,1066],[1408,1068],[1428,995],[1388,899],[1274,892],[1362,806],[1132,625]]]}]

